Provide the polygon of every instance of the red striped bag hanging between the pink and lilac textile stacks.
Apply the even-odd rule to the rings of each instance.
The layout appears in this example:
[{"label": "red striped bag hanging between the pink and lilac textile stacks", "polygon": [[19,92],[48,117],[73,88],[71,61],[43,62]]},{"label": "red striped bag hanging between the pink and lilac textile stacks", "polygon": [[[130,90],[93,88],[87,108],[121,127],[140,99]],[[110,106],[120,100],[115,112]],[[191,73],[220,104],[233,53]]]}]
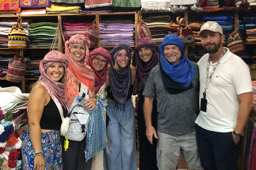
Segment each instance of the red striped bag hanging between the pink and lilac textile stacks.
[{"label": "red striped bag hanging between the pink and lilac textile stacks", "polygon": [[96,44],[100,40],[100,29],[96,24],[96,22],[98,20],[99,20],[99,15],[96,13],[96,17],[95,17],[95,20],[92,23],[92,26],[89,27],[86,30],[86,33],[85,33],[85,37],[87,37],[91,42],[90,47],[96,47]]}]

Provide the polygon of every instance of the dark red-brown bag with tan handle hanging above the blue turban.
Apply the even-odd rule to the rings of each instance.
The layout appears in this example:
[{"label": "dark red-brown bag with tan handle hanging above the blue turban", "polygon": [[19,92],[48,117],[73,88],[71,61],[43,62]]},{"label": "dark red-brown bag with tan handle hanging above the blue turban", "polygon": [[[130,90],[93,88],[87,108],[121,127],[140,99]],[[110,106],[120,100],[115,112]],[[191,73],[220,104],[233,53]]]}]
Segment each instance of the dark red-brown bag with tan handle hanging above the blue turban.
[{"label": "dark red-brown bag with tan handle hanging above the blue turban", "polygon": [[184,41],[184,46],[195,45],[193,31],[185,22],[184,18],[177,17],[176,21],[179,24],[179,27],[177,28],[179,31],[176,33],[176,35]]}]

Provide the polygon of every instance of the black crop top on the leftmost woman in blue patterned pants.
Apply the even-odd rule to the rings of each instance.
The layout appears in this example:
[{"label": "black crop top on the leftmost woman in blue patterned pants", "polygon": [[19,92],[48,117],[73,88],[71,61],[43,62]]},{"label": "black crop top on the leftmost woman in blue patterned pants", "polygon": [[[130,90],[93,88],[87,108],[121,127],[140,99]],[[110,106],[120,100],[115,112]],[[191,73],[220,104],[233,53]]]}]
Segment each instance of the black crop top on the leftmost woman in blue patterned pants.
[{"label": "black crop top on the leftmost woman in blue patterned pants", "polygon": [[[63,109],[64,118],[68,114],[68,110],[65,109],[64,106],[61,106]],[[50,102],[44,106],[44,111],[40,120],[41,129],[49,129],[49,130],[60,130],[62,120],[60,117],[60,112],[55,102],[50,99]]]}]

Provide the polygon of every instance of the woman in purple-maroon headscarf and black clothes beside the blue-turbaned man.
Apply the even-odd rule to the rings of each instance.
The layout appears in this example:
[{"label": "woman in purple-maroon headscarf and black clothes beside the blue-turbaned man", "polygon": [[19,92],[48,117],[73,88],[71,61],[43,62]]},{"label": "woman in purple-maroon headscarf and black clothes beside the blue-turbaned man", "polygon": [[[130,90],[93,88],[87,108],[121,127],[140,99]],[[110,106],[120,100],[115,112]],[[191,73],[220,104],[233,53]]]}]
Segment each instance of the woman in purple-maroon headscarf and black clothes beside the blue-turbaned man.
[{"label": "woman in purple-maroon headscarf and black clothes beside the blue-turbaned man", "polygon": [[[142,38],[135,47],[133,54],[136,58],[136,80],[138,82],[138,136],[140,142],[140,170],[157,170],[156,144],[157,139],[153,137],[153,144],[147,139],[146,126],[143,116],[144,96],[142,95],[148,75],[153,67],[158,64],[156,44],[149,38]],[[153,101],[152,126],[157,129],[156,99]]]}]

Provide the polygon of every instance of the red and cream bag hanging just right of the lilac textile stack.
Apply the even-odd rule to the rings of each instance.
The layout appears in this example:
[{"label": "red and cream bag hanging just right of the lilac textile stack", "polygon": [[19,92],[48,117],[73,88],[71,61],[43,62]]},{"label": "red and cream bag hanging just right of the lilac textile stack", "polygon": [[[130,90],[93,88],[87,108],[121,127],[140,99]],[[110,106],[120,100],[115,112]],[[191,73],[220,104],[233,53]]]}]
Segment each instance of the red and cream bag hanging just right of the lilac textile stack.
[{"label": "red and cream bag hanging just right of the lilac textile stack", "polygon": [[152,39],[151,31],[149,30],[147,25],[142,20],[141,12],[139,12],[139,21],[136,24],[135,30],[136,30],[135,32],[136,32],[136,40],[137,41],[139,41],[143,37]]}]

